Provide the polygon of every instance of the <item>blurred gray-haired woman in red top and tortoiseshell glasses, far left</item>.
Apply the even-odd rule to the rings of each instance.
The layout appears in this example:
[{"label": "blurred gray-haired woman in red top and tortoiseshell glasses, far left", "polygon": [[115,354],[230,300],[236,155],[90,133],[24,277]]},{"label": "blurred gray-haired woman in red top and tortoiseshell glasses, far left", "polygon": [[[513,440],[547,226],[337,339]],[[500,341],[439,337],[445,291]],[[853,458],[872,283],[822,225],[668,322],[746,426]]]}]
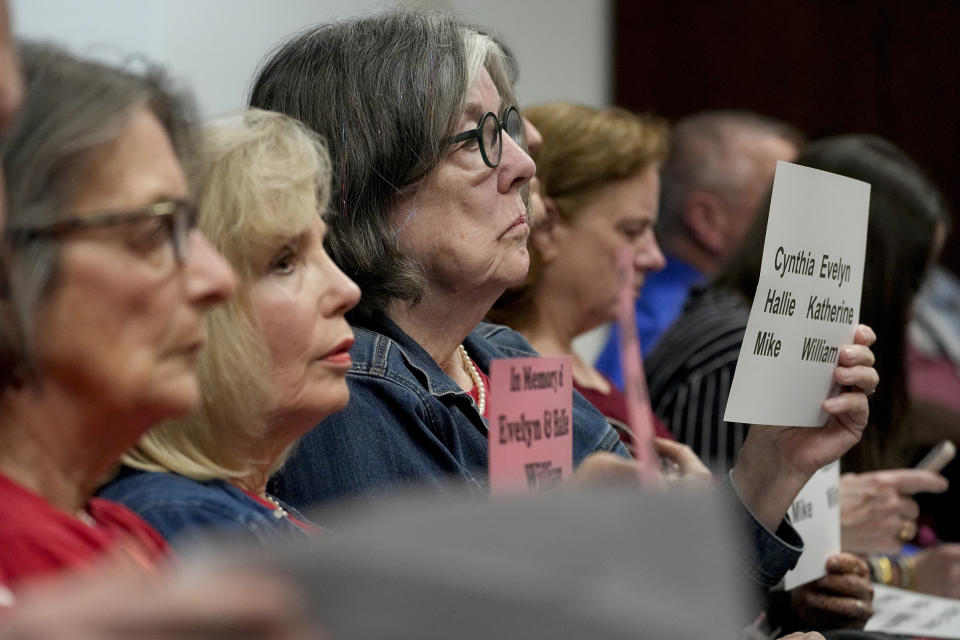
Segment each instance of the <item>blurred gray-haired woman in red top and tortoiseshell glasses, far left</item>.
[{"label": "blurred gray-haired woman in red top and tortoiseshell glasses, far left", "polygon": [[198,402],[202,317],[233,289],[192,230],[181,101],[155,74],[23,50],[26,98],[3,145],[12,244],[0,319],[0,584],[163,539],[91,498],[150,426]]}]

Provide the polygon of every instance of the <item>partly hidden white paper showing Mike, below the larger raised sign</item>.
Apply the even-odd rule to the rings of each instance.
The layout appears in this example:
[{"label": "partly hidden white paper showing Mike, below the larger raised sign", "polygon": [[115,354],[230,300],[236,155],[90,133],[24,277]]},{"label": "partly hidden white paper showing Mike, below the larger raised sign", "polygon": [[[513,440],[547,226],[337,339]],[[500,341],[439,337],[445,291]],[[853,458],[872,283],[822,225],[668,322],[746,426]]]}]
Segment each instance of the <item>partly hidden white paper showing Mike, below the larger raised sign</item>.
[{"label": "partly hidden white paper showing Mike, below the larger raised sign", "polygon": [[797,566],[784,576],[784,588],[799,587],[827,574],[827,557],[840,553],[840,463],[834,462],[813,474],[787,514],[803,538],[803,554]]}]

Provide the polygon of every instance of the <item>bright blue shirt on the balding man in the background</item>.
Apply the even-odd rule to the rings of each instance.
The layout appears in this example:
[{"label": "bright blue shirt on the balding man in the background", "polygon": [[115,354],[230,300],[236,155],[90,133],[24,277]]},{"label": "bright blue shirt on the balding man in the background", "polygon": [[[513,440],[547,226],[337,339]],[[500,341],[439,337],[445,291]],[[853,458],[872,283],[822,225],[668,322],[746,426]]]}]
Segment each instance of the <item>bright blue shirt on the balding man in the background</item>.
[{"label": "bright blue shirt on the balding man in the background", "polygon": [[[704,281],[704,275],[679,258],[666,256],[666,266],[649,274],[635,303],[637,334],[644,357],[683,311],[690,289]],[[623,389],[620,363],[620,336],[614,329],[597,357],[597,369]]]}]

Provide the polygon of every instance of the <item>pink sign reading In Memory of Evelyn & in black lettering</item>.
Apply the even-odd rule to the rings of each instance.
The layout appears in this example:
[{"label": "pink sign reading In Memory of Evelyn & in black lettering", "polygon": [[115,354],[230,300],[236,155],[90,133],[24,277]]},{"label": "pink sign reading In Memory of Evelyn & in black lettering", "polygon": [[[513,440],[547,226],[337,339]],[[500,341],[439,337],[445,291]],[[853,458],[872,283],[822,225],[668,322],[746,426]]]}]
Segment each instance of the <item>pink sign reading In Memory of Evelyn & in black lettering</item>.
[{"label": "pink sign reading In Memory of Evelyn & in black lettering", "polygon": [[490,364],[490,493],[536,492],[573,473],[571,360]]}]

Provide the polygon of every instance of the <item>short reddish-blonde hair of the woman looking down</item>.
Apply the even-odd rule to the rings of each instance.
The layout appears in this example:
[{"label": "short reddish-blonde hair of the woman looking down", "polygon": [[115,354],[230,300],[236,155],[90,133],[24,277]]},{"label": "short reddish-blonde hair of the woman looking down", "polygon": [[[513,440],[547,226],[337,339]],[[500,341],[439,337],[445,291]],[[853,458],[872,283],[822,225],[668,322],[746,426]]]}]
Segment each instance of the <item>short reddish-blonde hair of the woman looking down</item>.
[{"label": "short reddish-blonde hair of the woman looking down", "polygon": [[[657,167],[667,155],[665,120],[612,107],[597,109],[569,102],[548,102],[524,110],[543,142],[533,151],[540,193],[552,198],[559,217],[572,222],[604,186]],[[530,270],[522,284],[508,289],[488,314],[514,328],[533,319],[533,298],[543,264],[533,242]]]}]

